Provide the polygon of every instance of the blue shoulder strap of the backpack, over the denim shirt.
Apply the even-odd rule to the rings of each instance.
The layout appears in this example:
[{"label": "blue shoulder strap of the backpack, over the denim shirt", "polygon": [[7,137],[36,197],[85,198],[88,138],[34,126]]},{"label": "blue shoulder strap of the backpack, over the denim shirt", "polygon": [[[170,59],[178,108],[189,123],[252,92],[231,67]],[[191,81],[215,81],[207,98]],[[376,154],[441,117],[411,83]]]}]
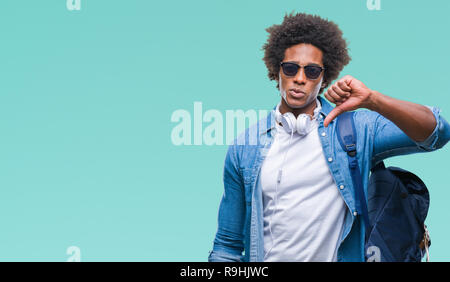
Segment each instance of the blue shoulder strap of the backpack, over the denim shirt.
[{"label": "blue shoulder strap of the backpack, over the denim shirt", "polygon": [[356,157],[356,129],[353,120],[354,112],[344,112],[337,119],[337,136],[342,149],[347,152],[348,166],[355,189],[355,207],[358,215],[362,215],[366,227],[366,235],[370,234],[369,213],[361,177],[361,171]]}]

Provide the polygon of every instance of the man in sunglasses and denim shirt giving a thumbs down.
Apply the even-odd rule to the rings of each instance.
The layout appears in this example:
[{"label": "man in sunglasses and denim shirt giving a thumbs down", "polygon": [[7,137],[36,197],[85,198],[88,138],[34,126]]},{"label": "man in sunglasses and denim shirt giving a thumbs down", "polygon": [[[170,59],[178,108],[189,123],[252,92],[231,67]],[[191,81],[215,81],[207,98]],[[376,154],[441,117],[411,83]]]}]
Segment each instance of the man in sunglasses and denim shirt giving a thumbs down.
[{"label": "man in sunglasses and denim shirt giving a thumbs down", "polygon": [[280,103],[228,148],[208,261],[363,261],[364,225],[336,117],[364,108],[354,118],[366,195],[372,166],[442,148],[450,126],[439,108],[394,99],[349,75],[324,93],[336,107],[319,96],[350,61],[333,22],[290,14],[267,31],[264,61]]}]

